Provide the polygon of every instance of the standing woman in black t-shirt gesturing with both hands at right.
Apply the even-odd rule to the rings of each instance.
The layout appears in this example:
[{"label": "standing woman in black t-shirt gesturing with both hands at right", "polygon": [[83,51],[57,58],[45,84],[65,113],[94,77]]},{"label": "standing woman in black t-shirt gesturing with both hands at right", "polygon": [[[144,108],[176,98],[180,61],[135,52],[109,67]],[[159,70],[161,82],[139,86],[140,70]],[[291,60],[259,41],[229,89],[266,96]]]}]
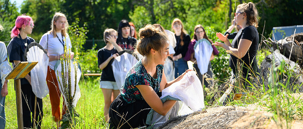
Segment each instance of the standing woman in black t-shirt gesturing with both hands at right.
[{"label": "standing woman in black t-shirt gesturing with both hands at right", "polygon": [[256,29],[258,27],[257,17],[258,12],[255,4],[249,2],[238,5],[235,18],[237,25],[243,27],[242,32],[238,33],[231,43],[227,38],[228,34],[224,36],[222,33],[216,33],[217,37],[224,43],[213,43],[213,45],[221,46],[230,51],[229,66],[236,77],[242,77],[241,80],[245,80],[245,78],[250,80],[249,76],[256,77],[257,72],[260,73],[256,60],[259,40]]}]

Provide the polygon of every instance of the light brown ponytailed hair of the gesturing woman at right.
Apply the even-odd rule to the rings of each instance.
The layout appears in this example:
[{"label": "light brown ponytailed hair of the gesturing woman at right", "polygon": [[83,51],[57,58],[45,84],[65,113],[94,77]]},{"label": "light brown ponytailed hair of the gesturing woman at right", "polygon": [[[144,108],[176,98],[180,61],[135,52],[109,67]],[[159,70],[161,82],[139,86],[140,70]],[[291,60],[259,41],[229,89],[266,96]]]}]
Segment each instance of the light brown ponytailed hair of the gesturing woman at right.
[{"label": "light brown ponytailed hair of the gesturing woman at right", "polygon": [[252,2],[249,3],[243,3],[237,6],[237,9],[241,13],[245,13],[247,16],[247,22],[246,25],[250,26],[253,25],[255,27],[258,27],[258,11],[255,7],[255,4]]}]

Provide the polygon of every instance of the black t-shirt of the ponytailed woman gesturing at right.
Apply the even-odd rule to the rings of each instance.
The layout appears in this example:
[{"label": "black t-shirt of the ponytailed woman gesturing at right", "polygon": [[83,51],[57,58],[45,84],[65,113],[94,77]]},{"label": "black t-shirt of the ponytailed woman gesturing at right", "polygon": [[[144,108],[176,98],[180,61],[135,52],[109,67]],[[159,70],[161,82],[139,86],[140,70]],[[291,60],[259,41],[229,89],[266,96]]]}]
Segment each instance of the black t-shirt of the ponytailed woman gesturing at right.
[{"label": "black t-shirt of the ponytailed woman gesturing at right", "polygon": [[[245,27],[243,30],[241,29],[235,36],[234,40],[232,40],[231,46],[233,48],[237,49],[238,42],[240,41],[240,39],[250,40],[252,42],[251,46],[249,47],[245,56],[243,58],[241,58],[241,60],[239,60],[234,55],[230,55],[229,66],[231,67],[231,69],[235,75],[239,75],[237,73],[238,72],[237,62],[239,61],[240,66],[242,66],[242,72],[243,72],[242,76],[246,78],[248,73],[252,74],[252,72],[249,70],[248,67],[250,67],[250,69],[252,69],[254,71],[254,73],[255,72],[260,73],[260,69],[258,68],[258,62],[256,60],[258,42],[259,42],[259,34],[258,34],[256,27],[248,26],[248,27]],[[243,61],[245,64],[243,64]],[[254,75],[254,74],[252,74],[252,75]]]}]

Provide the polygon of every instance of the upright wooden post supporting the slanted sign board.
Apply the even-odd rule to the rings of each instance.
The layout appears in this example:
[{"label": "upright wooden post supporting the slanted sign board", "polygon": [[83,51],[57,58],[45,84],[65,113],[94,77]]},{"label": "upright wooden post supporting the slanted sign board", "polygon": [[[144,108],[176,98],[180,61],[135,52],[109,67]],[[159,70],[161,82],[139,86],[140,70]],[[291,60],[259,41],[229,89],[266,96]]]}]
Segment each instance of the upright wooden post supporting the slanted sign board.
[{"label": "upright wooden post supporting the slanted sign board", "polygon": [[23,129],[23,114],[22,114],[22,98],[21,98],[21,83],[20,79],[15,79],[16,90],[16,106],[17,106],[17,120],[18,129]]}]

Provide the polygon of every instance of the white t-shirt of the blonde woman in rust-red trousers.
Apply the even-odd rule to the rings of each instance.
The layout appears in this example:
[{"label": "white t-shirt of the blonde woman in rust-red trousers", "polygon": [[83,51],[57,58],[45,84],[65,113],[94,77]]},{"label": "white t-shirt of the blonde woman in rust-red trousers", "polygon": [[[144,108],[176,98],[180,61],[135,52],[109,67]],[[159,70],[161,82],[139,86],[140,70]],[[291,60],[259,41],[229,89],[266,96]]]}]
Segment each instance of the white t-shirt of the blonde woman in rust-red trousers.
[{"label": "white t-shirt of the blonde woman in rust-red trousers", "polygon": [[[62,55],[64,53],[64,45],[62,44],[62,34],[61,32],[56,33],[57,37],[54,37],[52,33],[48,34],[45,33],[40,39],[39,44],[44,48],[47,49],[47,55]],[[48,39],[47,39],[48,38]],[[63,37],[63,39],[65,39]],[[60,42],[61,41],[61,42]],[[47,43],[48,42],[48,43]],[[72,42],[69,38],[69,35],[66,33],[66,49],[72,49]],[[48,66],[55,70],[55,64],[58,60],[49,61]]]}]

